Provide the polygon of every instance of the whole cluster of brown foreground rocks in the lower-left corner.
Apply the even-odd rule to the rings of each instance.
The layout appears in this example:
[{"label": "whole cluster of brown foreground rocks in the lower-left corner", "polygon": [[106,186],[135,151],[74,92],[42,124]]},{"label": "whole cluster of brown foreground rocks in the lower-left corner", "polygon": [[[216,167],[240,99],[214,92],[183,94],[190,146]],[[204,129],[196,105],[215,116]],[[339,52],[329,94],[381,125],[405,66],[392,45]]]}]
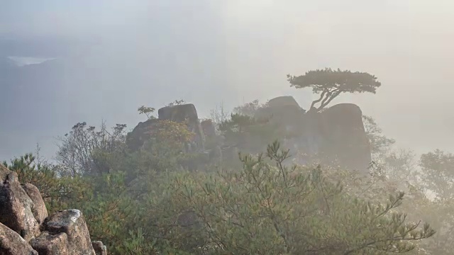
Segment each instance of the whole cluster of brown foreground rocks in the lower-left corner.
[{"label": "whole cluster of brown foreground rocks in the lower-left corner", "polygon": [[[96,242],[96,245],[102,246]],[[106,254],[104,246],[104,253]],[[31,183],[0,165],[0,254],[95,255],[79,210],[48,216],[43,198]]]}]

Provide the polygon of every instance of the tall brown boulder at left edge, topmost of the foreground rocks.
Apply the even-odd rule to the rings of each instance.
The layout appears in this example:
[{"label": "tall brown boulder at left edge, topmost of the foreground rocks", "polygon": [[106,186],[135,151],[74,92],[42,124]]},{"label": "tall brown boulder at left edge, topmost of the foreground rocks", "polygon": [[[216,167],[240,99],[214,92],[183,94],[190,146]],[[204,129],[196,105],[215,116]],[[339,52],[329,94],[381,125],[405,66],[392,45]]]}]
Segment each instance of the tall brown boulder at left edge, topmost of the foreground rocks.
[{"label": "tall brown boulder at left edge, topmost of the foreground rocks", "polygon": [[16,172],[0,183],[0,222],[30,241],[40,233],[33,200],[23,190]]}]

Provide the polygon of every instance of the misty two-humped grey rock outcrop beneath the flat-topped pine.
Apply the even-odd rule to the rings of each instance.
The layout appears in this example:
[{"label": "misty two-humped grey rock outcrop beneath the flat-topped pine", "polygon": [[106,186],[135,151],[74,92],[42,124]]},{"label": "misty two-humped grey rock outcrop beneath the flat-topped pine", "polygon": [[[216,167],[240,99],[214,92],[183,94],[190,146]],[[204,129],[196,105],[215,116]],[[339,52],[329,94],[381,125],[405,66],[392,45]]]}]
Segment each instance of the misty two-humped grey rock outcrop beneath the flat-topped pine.
[{"label": "misty two-humped grey rock outcrop beneath the flat-topped pine", "polygon": [[[370,145],[361,109],[355,104],[341,103],[320,113],[306,112],[292,96],[279,96],[268,101],[255,118],[266,116],[287,134],[284,147],[315,156],[322,164],[367,171]],[[301,163],[307,162],[310,160]]]}]

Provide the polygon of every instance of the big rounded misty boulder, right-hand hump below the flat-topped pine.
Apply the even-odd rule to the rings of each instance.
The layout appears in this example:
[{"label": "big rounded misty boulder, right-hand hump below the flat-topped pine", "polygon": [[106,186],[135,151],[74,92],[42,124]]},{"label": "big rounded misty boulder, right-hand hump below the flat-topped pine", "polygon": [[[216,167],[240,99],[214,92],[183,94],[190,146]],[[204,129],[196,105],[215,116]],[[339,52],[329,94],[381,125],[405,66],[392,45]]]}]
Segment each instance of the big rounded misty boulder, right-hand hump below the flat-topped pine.
[{"label": "big rounded misty boulder, right-hand hump below the flat-topped pine", "polygon": [[365,172],[371,161],[362,112],[353,103],[304,114],[297,136],[289,143],[309,157],[315,155],[321,164]]}]

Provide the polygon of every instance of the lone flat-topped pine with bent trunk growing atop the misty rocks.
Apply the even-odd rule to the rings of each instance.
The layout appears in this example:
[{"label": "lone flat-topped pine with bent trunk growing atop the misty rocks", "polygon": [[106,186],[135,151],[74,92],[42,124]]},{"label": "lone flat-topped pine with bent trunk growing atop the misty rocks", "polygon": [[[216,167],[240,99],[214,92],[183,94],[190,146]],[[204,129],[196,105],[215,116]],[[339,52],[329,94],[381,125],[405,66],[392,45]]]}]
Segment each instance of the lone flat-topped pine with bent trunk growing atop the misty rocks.
[{"label": "lone flat-topped pine with bent trunk growing atop the misty rocks", "polygon": [[[376,89],[381,85],[380,81],[377,81],[377,77],[367,72],[331,68],[316,69],[298,77],[287,74],[287,80],[290,82],[290,86],[297,89],[312,88],[315,94],[320,94],[320,98],[313,101],[309,109],[309,111],[316,112],[328,106],[341,93],[370,92],[375,94]],[[320,106],[315,107],[316,103],[320,103]]]}]

